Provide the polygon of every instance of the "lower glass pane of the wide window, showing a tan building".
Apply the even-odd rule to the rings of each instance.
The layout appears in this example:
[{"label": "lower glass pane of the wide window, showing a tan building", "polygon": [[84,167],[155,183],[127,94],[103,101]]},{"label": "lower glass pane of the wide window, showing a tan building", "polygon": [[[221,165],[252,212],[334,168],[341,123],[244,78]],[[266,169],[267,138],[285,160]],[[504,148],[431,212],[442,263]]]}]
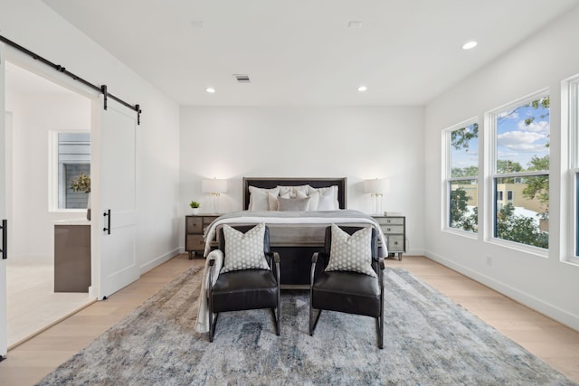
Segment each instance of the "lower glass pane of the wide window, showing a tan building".
[{"label": "lower glass pane of the wide window, showing a tan building", "polygon": [[496,178],[495,197],[495,237],[549,248],[548,174],[520,177],[517,182],[513,178]]}]

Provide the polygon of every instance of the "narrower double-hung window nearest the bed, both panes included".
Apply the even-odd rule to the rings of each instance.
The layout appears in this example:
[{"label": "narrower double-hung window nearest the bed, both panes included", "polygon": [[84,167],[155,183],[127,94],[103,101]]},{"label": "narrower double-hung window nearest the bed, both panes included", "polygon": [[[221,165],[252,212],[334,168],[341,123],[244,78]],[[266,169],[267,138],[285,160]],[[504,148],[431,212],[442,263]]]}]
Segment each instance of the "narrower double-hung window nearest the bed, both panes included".
[{"label": "narrower double-hung window nearest the bed, both panes included", "polygon": [[470,121],[446,131],[448,227],[479,228],[479,124]]}]

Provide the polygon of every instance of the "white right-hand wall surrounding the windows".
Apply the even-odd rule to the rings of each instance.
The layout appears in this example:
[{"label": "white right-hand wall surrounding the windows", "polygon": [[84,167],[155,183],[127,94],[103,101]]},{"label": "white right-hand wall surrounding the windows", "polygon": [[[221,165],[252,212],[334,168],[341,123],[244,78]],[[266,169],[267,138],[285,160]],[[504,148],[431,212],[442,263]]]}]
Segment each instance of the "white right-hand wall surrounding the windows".
[{"label": "white right-hand wall surrounding the windows", "polygon": [[[561,81],[579,73],[578,21],[579,8],[575,8],[433,100],[426,108],[424,147],[425,186],[433,203],[425,206],[427,256],[577,330],[579,266],[562,261],[570,253],[566,248],[569,235],[566,213],[570,212],[570,206],[565,201],[569,185],[565,178],[567,136],[565,120],[561,118]],[[480,44],[478,49],[484,49],[484,45]],[[479,117],[482,123],[486,111],[546,87],[551,95],[548,258],[493,244],[485,240],[489,234],[472,240],[441,231],[441,131],[471,117]],[[480,133],[481,137],[485,132]],[[489,189],[489,181],[479,183]],[[489,212],[484,203],[479,200],[479,213]],[[485,221],[491,220],[479,215],[479,221],[479,228],[483,229]],[[493,258],[490,267],[485,263],[487,256]]]}]

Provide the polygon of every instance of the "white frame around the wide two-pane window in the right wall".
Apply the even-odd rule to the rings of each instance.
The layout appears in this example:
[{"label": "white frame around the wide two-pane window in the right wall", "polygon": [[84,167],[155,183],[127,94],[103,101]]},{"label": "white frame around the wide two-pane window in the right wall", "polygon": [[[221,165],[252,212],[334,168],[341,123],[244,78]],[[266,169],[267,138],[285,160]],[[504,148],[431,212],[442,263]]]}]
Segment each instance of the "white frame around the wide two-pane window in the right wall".
[{"label": "white frame around the wide two-pane window in the right wall", "polygon": [[[487,168],[488,168],[488,175],[485,178],[488,181],[487,186],[489,189],[485,190],[485,194],[487,195],[488,199],[485,202],[489,203],[489,210],[485,211],[485,216],[487,221],[485,223],[489,224],[485,229],[485,240],[491,244],[500,245],[509,249],[517,249],[523,252],[527,252],[542,258],[548,258],[549,250],[553,247],[549,245],[549,248],[544,249],[528,244],[524,244],[522,242],[513,241],[513,240],[505,240],[498,238],[497,235],[497,181],[500,178],[513,178],[517,179],[520,177],[530,177],[530,176],[540,176],[540,175],[547,175],[549,178],[549,194],[551,194],[551,172],[550,170],[534,170],[534,171],[525,171],[525,172],[515,172],[515,173],[504,173],[498,174],[497,173],[497,139],[498,139],[498,127],[497,127],[497,118],[498,116],[503,113],[508,108],[517,108],[522,105],[525,105],[529,102],[532,102],[536,99],[542,99],[546,97],[551,97],[551,93],[549,89],[540,89],[532,94],[529,94],[523,98],[513,100],[507,104],[499,106],[498,108],[493,108],[485,113],[485,127],[488,130],[489,134],[489,150],[485,153],[488,156],[487,159]],[[549,125],[551,119],[549,118]],[[549,130],[550,133],[550,130]],[[549,152],[549,159],[550,159],[550,152]],[[550,164],[549,164],[550,165]]]}]

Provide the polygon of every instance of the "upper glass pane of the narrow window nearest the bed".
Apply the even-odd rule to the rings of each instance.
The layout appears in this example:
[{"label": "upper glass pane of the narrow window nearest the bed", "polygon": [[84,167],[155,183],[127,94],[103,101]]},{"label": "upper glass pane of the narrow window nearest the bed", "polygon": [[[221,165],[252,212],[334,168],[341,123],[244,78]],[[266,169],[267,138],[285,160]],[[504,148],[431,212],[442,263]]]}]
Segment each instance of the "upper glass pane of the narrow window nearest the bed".
[{"label": "upper glass pane of the narrow window nearest the bed", "polygon": [[479,174],[479,124],[473,123],[451,132],[451,177]]}]

